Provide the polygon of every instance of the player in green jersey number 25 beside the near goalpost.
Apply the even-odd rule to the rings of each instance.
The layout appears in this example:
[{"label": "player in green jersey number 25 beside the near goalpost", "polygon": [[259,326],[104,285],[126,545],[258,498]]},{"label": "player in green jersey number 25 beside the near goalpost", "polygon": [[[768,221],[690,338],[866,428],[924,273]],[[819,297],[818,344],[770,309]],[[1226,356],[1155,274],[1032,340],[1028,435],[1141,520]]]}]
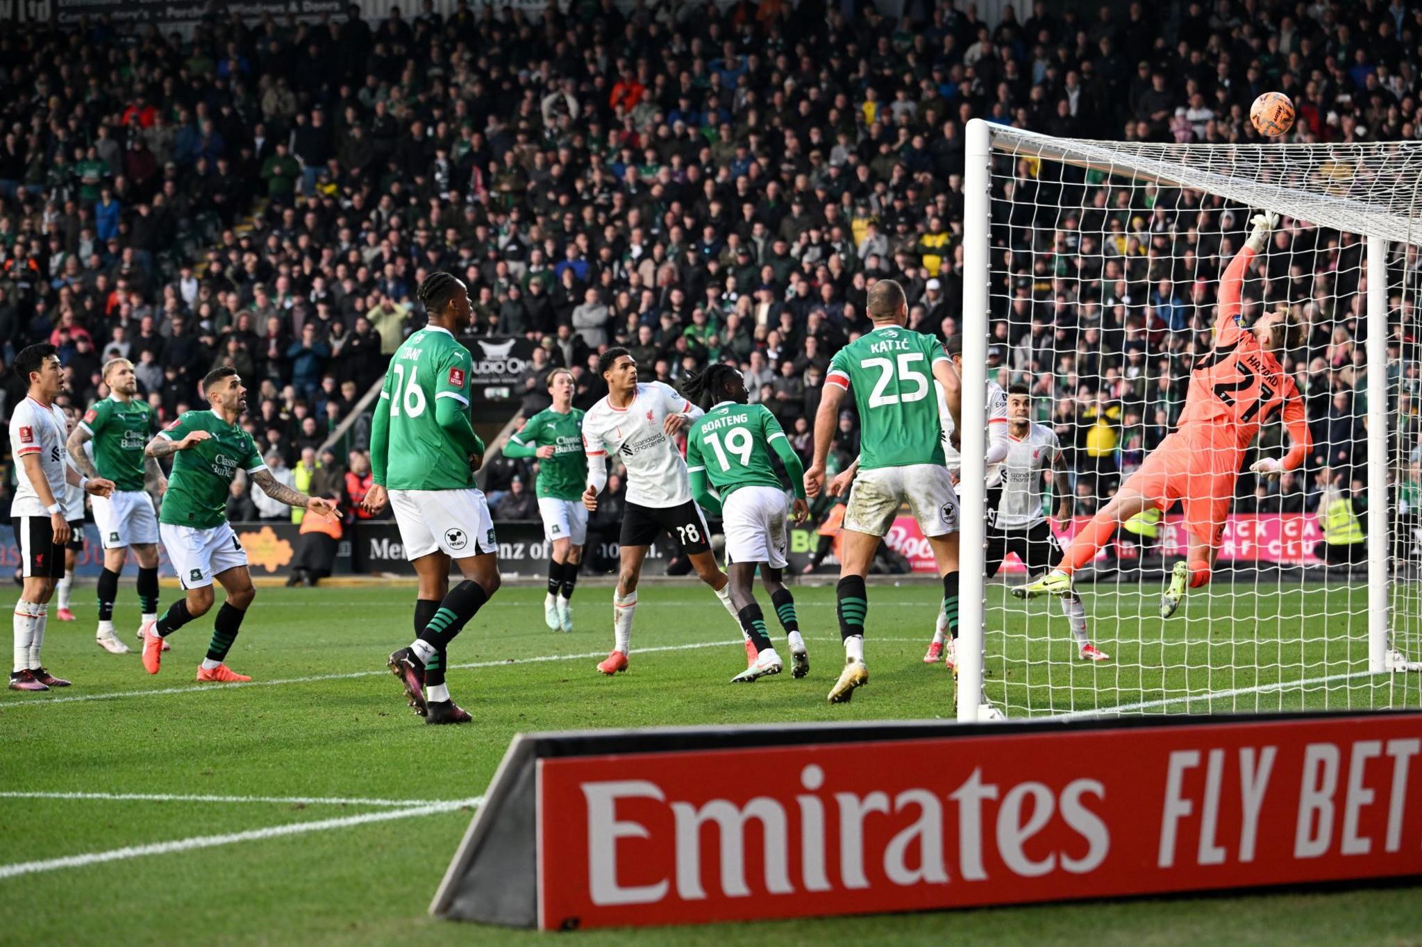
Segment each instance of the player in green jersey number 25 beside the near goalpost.
[{"label": "player in green jersey number 25 beside the near goalpost", "polygon": [[845,670],[829,692],[833,704],[849,701],[856,687],[869,683],[865,574],[899,506],[907,502],[919,520],[943,576],[944,597],[954,560],[956,536],[950,533],[958,529],[958,502],[953,478],[943,465],[943,427],[933,391],[937,380],[954,429],[961,431],[958,375],[936,338],[904,328],[909,304],[899,283],[876,282],[869,289],[866,309],[873,331],[840,348],[829,363],[825,397],[815,415],[815,459],[805,471],[805,489],[818,496],[825,488],[825,458],[835,441],[839,405],[852,388],[859,410],[860,472],[845,509],[836,590]]}]

